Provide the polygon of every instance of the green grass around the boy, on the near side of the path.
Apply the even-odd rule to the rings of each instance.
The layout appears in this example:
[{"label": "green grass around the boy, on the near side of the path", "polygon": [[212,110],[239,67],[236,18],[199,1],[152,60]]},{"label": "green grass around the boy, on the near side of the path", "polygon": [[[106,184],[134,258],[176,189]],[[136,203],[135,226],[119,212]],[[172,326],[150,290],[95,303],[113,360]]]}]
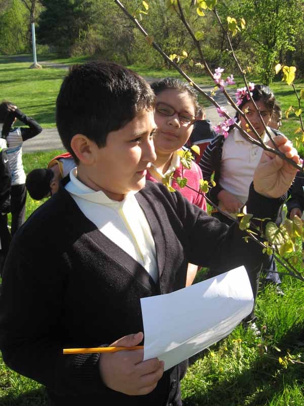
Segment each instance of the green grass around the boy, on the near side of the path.
[{"label": "green grass around the boy, on the near side of the path", "polygon": [[[24,154],[26,172],[45,167],[58,152]],[[27,216],[42,203],[28,196]],[[181,383],[184,406],[304,406],[304,284],[285,276],[282,288],[284,297],[261,287],[260,336],[238,326],[190,360]],[[7,368],[0,357],[0,406],[46,404],[44,388]]]}]

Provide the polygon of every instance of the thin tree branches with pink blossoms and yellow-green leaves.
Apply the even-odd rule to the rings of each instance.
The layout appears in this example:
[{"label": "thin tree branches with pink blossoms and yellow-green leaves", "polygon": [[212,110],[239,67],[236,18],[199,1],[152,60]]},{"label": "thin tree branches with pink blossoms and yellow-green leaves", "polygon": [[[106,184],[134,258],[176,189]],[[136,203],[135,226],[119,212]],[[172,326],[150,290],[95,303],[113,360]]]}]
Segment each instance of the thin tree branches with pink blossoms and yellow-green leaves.
[{"label": "thin tree branches with pink blossoms and yellow-green leaves", "polygon": [[[114,0],[114,1],[123,10],[123,12],[133,21],[133,23],[136,25],[136,27],[140,30],[140,32],[145,37],[148,45],[153,46],[158,52],[160,52],[161,55],[163,56],[163,58],[165,60],[167,60],[181,74],[182,77],[184,77],[200,94],[202,94],[204,97],[206,97],[217,108],[217,112],[218,112],[219,116],[225,118],[224,122],[218,126],[218,130],[222,131],[224,136],[226,136],[228,134],[228,132],[227,132],[228,126],[233,124],[233,125],[235,125],[235,127],[237,127],[239,129],[242,136],[246,140],[248,140],[249,142],[251,142],[255,145],[258,145],[259,147],[261,147],[262,149],[264,149],[266,151],[270,151],[270,152],[273,152],[273,153],[279,155],[282,159],[287,160],[291,165],[297,167],[298,170],[302,171],[302,167],[300,165],[297,165],[293,160],[287,158],[284,154],[282,154],[278,150],[278,148],[275,146],[275,143],[271,137],[271,134],[269,133],[267,127],[265,126],[265,124],[262,120],[260,112],[259,112],[254,100],[252,99],[252,94],[250,92],[250,90],[253,88],[253,85],[251,83],[247,82],[246,72],[244,70],[242,70],[242,68],[238,62],[238,59],[233,50],[230,36],[229,36],[228,32],[224,29],[224,26],[220,20],[220,17],[218,16],[218,13],[215,9],[217,0],[197,0],[195,2],[192,2],[192,5],[195,7],[198,6],[196,9],[196,12],[199,16],[204,16],[205,10],[213,11],[221,28],[225,32],[226,38],[230,44],[233,58],[235,59],[237,66],[239,67],[240,73],[244,79],[244,83],[246,86],[245,88],[238,89],[238,91],[236,93],[237,102],[235,102],[230,97],[230,95],[227,93],[227,91],[225,89],[225,87],[227,85],[235,83],[233,81],[233,75],[231,75],[230,77],[227,77],[226,81],[224,81],[221,78],[223,69],[218,68],[217,70],[215,70],[214,73],[212,73],[212,71],[210,70],[210,68],[208,66],[208,63],[206,62],[206,60],[204,58],[203,51],[202,51],[201,44],[200,44],[200,41],[204,37],[203,32],[202,31],[193,32],[193,30],[187,23],[187,20],[184,15],[184,10],[183,10],[180,0],[168,0],[167,5],[171,11],[174,11],[178,15],[178,17],[184,24],[186,30],[188,31],[189,35],[191,36],[191,38],[198,50],[198,53],[200,56],[200,61],[197,62],[196,65],[199,67],[200,66],[204,67],[206,72],[215,82],[215,85],[216,85],[215,88],[218,88],[220,91],[222,91],[224,96],[227,98],[227,101],[229,102],[229,104],[231,104],[231,106],[238,112],[239,115],[244,117],[244,119],[246,120],[247,125],[248,125],[248,127],[247,127],[248,130],[250,128],[250,130],[254,134],[255,138],[251,137],[247,131],[243,130],[243,128],[237,122],[235,122],[235,120],[225,111],[225,109],[223,109],[221,106],[219,106],[216,103],[216,101],[214,100],[214,98],[212,96],[209,96],[206,92],[204,92],[181,69],[181,67],[178,65],[178,62],[180,60],[184,60],[185,58],[187,58],[186,51],[182,51],[181,55],[177,55],[177,54],[167,55],[159,47],[159,45],[154,41],[154,37],[148,35],[148,33],[145,31],[145,29],[142,27],[142,25],[138,22],[138,19],[137,19],[138,16],[140,16],[139,18],[142,19],[142,16],[141,16],[142,13],[147,14],[148,9],[149,9],[149,5],[147,4],[147,2],[142,2],[142,5],[143,5],[145,11],[141,11],[137,7],[136,10],[134,11],[134,13],[131,14],[124,7],[124,5],[120,2],[120,0]],[[241,31],[241,28],[243,29],[245,27],[245,21],[243,19],[240,21],[240,24],[241,24],[241,28],[240,28],[237,24],[236,19],[234,19],[232,17],[227,18],[227,24],[228,24],[228,30],[230,30],[232,32],[233,36],[235,36],[238,31]],[[191,60],[189,62],[189,65],[193,66],[194,61]],[[255,130],[255,128],[252,126],[252,124],[248,120],[248,118],[246,116],[246,112],[244,113],[242,110],[239,109],[238,105],[240,104],[240,100],[242,97],[247,97],[248,100],[252,101],[254,108],[257,110],[257,112],[259,114],[260,121],[262,122],[265,131],[268,133],[269,138],[272,140],[275,148],[272,148],[272,147],[266,145],[262,141],[262,139],[259,136],[259,134],[257,133],[257,131]],[[195,148],[195,146],[193,148]],[[180,154],[181,154],[181,164],[184,167],[189,167],[189,165],[191,166],[191,161],[192,161],[191,152],[189,152],[189,151],[180,152]],[[172,178],[172,176],[173,176],[173,174],[169,175],[169,177],[164,178],[163,183],[168,187],[169,190],[174,191],[174,189],[170,186],[170,178]],[[191,188],[190,186],[187,185],[187,180],[185,178],[176,178],[175,180],[181,188],[183,188],[183,187]],[[207,181],[202,180],[199,193],[207,192],[209,187],[211,187],[211,186],[214,186],[214,184],[209,185]],[[191,189],[193,190],[193,188],[191,188]],[[214,203],[211,200],[208,199],[208,197],[206,197],[206,200],[209,202],[210,205],[212,205],[220,213],[235,220],[235,217],[227,214],[226,212],[221,211],[216,205],[214,205]],[[286,269],[287,275],[290,275],[290,276],[297,278],[304,282],[303,275],[294,266],[295,262],[292,263],[292,261],[295,261],[295,260],[291,261],[290,259],[288,259],[284,256],[284,255],[289,254],[294,251],[294,249],[295,249],[294,245],[295,245],[296,238],[304,239],[304,229],[302,227],[301,220],[299,220],[298,218],[295,218],[293,221],[286,220],[283,224],[280,225],[280,227],[277,227],[276,224],[274,224],[272,222],[268,222],[265,227],[265,233],[263,233],[263,227],[262,227],[262,223],[265,219],[254,219],[254,218],[252,218],[251,214],[241,213],[238,215],[238,220],[240,223],[239,224],[240,228],[247,233],[246,239],[251,239],[251,240],[255,241],[256,243],[258,243],[259,245],[261,245],[263,251],[267,252],[269,255],[273,254],[275,259]],[[257,221],[260,222],[260,225],[256,225]],[[300,223],[299,223],[299,221],[300,221]],[[265,240],[264,242],[261,241],[263,239]]]}]

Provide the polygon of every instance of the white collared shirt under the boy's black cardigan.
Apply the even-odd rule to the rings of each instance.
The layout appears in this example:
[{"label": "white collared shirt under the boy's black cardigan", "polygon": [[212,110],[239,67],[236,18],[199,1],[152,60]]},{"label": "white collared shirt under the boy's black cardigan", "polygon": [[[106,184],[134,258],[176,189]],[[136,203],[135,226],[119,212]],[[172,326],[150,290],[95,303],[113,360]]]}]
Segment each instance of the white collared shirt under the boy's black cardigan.
[{"label": "white collared shirt under the boy's black cardigan", "polygon": [[155,243],[135,192],[129,192],[122,201],[111,200],[101,190],[95,191],[77,179],[77,168],[71,170],[65,189],[100,232],[139,262],[157,282]]}]

